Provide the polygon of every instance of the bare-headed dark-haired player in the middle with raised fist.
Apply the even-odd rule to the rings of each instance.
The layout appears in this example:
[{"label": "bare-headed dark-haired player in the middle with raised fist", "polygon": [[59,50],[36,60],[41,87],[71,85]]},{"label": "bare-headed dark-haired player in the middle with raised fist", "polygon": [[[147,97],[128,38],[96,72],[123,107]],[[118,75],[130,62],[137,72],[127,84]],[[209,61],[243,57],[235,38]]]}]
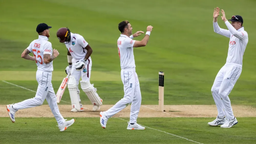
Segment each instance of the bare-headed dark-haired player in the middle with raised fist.
[{"label": "bare-headed dark-haired player in the middle with raised fist", "polygon": [[107,121],[110,117],[132,103],[130,122],[128,122],[127,129],[145,129],[145,127],[137,124],[137,117],[141,106],[141,91],[138,76],[135,72],[133,48],[146,46],[153,27],[147,27],[146,35],[142,41],[133,40],[133,37],[137,37],[141,35],[140,33],[144,32],[138,31],[131,35],[132,26],[128,21],[120,22],[118,28],[122,33],[118,38],[117,46],[121,63],[121,79],[124,85],[124,97],[109,110],[100,112],[100,124],[103,128],[106,128]]}]

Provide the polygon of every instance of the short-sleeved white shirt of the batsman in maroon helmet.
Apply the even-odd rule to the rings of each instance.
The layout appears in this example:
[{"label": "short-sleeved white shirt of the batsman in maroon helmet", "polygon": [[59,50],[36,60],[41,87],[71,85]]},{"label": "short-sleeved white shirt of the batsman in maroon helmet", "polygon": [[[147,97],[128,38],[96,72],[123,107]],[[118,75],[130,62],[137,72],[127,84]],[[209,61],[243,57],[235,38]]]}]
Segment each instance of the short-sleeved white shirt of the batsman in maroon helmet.
[{"label": "short-sleeved white shirt of the batsman in maroon helmet", "polygon": [[[68,44],[65,44],[72,58],[77,60],[83,60],[87,50],[84,49],[88,43],[84,40],[83,36],[76,33],[70,33],[71,40]],[[89,57],[90,58],[90,57]]]}]

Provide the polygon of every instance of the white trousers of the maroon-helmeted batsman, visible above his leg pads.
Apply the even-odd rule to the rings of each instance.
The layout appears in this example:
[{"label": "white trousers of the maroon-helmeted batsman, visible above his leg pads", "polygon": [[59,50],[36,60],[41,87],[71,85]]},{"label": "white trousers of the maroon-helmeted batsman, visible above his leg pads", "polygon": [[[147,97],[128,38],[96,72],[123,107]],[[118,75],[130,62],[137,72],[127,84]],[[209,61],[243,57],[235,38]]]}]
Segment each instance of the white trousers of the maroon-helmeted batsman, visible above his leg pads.
[{"label": "white trousers of the maroon-helmeted batsman, visible above his leg pads", "polygon": [[84,70],[77,71],[75,67],[75,63],[79,61],[77,59],[72,59],[72,68],[71,68],[71,75],[75,77],[77,81],[77,94],[78,94],[78,100],[79,102],[81,101],[80,99],[80,90],[78,88],[79,85],[79,80],[82,77],[82,81],[87,81],[90,82],[90,77],[91,77],[91,70],[92,70],[92,59],[89,57],[89,59],[86,61]]}]

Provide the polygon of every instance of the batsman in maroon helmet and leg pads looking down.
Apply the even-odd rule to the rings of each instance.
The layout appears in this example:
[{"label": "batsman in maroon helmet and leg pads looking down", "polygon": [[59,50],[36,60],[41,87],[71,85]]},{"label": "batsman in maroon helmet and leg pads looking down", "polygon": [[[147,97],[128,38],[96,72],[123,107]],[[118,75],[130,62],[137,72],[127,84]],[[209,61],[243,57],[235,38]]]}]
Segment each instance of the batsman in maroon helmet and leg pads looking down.
[{"label": "batsman in maroon helmet and leg pads looking down", "polygon": [[92,111],[98,111],[102,106],[102,99],[97,94],[97,89],[90,83],[92,69],[92,48],[84,40],[83,36],[77,33],[71,33],[68,28],[60,28],[57,31],[57,37],[60,43],[64,43],[68,49],[67,58],[69,66],[66,73],[69,74],[68,90],[71,99],[71,112],[83,111],[80,99],[80,90],[78,89],[79,80],[81,89],[91,101]]}]

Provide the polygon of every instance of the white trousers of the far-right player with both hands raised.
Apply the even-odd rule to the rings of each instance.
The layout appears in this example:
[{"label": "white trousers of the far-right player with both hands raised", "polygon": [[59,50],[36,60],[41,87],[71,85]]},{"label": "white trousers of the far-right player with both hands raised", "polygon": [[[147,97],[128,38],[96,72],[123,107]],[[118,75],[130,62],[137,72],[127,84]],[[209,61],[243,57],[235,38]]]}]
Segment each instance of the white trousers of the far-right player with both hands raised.
[{"label": "white trousers of the far-right player with both hands raised", "polygon": [[228,95],[240,77],[241,72],[241,65],[226,63],[218,72],[211,88],[211,93],[218,110],[218,116],[226,116],[228,120],[234,119]]}]

